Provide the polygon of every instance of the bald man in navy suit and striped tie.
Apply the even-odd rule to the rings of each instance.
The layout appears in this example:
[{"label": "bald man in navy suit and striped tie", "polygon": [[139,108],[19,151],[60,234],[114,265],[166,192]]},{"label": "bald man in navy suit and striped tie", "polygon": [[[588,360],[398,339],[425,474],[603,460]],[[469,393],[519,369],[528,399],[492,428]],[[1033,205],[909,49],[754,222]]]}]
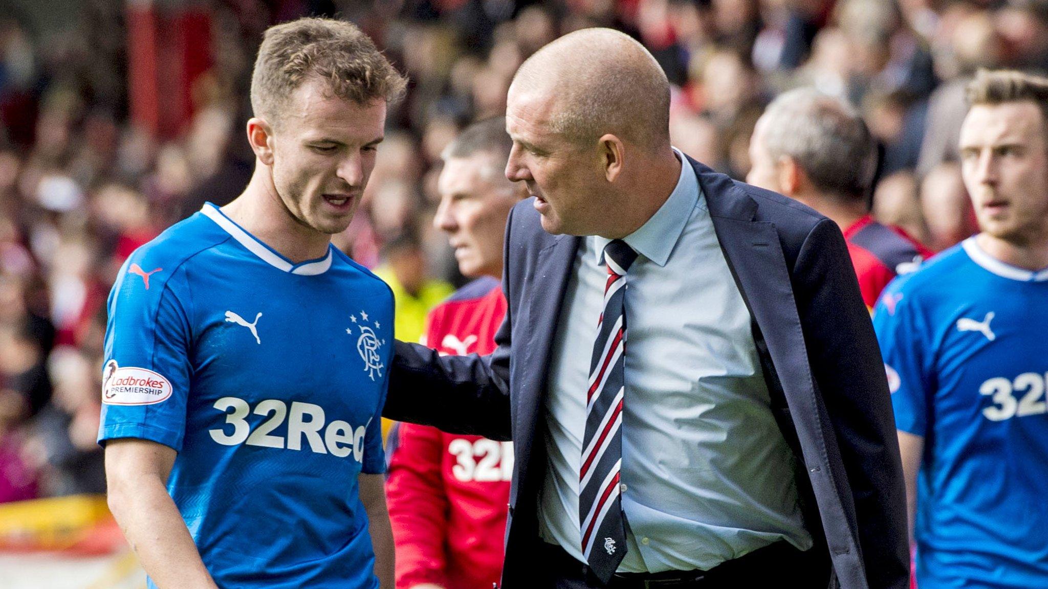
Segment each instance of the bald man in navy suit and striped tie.
[{"label": "bald man in navy suit and striped tie", "polygon": [[386,415],[512,439],[503,589],[902,589],[888,384],[840,231],[674,149],[669,101],[609,29],[521,66],[506,176],[532,198],[498,347],[398,342]]}]

